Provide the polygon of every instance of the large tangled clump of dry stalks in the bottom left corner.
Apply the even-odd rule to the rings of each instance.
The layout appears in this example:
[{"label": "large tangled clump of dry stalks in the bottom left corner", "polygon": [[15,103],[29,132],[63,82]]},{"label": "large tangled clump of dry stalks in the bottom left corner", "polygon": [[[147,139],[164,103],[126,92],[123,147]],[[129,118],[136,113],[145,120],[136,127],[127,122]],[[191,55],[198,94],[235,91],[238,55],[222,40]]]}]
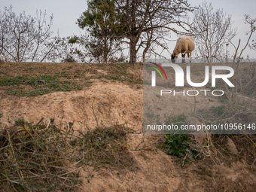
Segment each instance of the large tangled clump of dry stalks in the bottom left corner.
[{"label": "large tangled clump of dry stalks in the bottom left corner", "polygon": [[0,133],[1,184],[15,190],[70,189],[79,183],[77,149],[70,145],[72,123],[64,129],[53,119],[33,124],[19,119]]}]

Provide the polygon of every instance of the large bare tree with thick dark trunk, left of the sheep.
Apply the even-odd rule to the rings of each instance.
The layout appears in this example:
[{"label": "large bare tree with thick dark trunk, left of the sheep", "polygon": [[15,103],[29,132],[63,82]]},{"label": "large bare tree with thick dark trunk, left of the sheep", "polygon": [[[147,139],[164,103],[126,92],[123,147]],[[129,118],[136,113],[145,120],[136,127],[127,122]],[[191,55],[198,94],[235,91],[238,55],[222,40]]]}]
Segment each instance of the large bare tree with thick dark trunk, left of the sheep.
[{"label": "large bare tree with thick dark trunk, left of the sheep", "polygon": [[[181,20],[193,11],[186,0],[115,0],[117,9],[123,18],[120,26],[127,39],[122,42],[130,44],[130,63],[135,64],[140,48],[145,53],[150,49],[151,42],[159,32],[175,32],[187,34],[189,27]],[[176,28],[178,27],[178,28]],[[184,32],[181,32],[184,31]],[[143,41],[147,39],[148,41]],[[144,53],[144,57],[145,57]]]}]

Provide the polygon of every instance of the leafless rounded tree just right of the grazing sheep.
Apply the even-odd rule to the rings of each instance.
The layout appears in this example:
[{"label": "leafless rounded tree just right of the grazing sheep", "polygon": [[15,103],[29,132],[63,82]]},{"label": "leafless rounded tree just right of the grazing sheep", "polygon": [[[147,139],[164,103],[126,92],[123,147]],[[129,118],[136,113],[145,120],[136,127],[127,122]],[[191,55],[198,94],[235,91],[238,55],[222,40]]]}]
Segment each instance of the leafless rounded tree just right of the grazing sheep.
[{"label": "leafless rounded tree just right of the grazing sheep", "polygon": [[194,34],[197,56],[212,62],[224,53],[224,45],[235,35],[236,30],[231,28],[231,16],[222,9],[214,11],[211,3],[203,2],[194,11],[192,30]]}]

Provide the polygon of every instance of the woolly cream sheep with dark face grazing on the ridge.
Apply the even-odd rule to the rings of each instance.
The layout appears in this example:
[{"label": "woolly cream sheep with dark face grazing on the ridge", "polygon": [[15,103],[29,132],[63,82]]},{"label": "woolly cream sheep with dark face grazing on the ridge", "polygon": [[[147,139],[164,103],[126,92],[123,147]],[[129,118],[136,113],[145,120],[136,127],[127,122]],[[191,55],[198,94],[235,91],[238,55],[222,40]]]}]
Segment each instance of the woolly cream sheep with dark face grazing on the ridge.
[{"label": "woolly cream sheep with dark face grazing on the ridge", "polygon": [[184,36],[178,38],[176,46],[172,52],[172,62],[175,62],[178,59],[178,54],[181,53],[182,62],[185,62],[185,54],[190,58],[191,62],[191,52],[195,48],[194,39],[191,36]]}]

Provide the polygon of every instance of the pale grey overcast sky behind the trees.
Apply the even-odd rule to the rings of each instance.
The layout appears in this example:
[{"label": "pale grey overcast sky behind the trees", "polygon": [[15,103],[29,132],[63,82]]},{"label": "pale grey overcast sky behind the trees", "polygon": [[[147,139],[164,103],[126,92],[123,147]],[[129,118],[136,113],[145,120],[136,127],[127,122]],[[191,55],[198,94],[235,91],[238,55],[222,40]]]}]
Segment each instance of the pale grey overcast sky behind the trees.
[{"label": "pale grey overcast sky behind the trees", "polygon": [[[198,6],[203,1],[201,0],[187,0],[192,6]],[[211,2],[211,1],[206,1]],[[61,37],[66,37],[69,35],[79,35],[80,31],[78,25],[75,24],[81,13],[87,9],[87,0],[0,0],[0,9],[4,10],[5,7],[13,6],[13,11],[15,13],[20,13],[25,11],[27,15],[35,17],[35,11],[47,11],[47,16],[53,14],[53,26],[52,30],[56,34],[59,29],[59,35]],[[237,44],[239,38],[241,38],[241,47],[245,45],[247,40],[245,36],[245,31],[249,29],[249,26],[243,23],[244,14],[249,14],[251,17],[256,17],[256,1],[255,0],[215,0],[212,1],[212,6],[216,10],[218,8],[223,8],[224,12],[230,14],[233,20],[233,27],[237,27],[238,35],[233,39],[233,43]],[[83,31],[81,31],[83,33]],[[176,40],[177,36],[172,34],[172,39]],[[256,32],[252,36],[251,40],[256,40]],[[175,47],[175,42],[169,44],[169,51],[172,52]],[[230,45],[228,47],[230,53],[233,52],[233,48]],[[168,53],[163,53],[164,56],[169,57]],[[256,51],[247,50],[244,51],[244,57],[249,56],[249,58],[256,59]]]}]

